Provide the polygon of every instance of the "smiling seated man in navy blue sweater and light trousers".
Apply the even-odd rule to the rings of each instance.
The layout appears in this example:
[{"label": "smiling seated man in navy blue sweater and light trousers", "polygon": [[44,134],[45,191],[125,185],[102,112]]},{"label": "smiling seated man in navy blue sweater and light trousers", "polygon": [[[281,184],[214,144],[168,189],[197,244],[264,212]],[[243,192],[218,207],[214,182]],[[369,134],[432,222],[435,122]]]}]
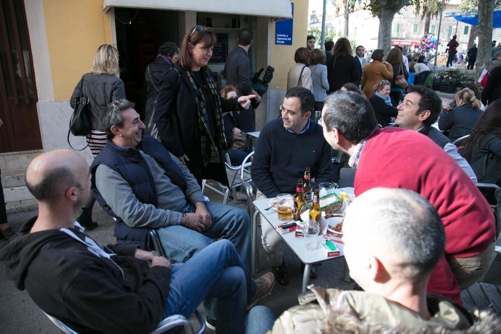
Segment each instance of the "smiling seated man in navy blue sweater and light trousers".
[{"label": "smiling seated man in navy blue sweater and light trousers", "polygon": [[[281,193],[294,194],[305,167],[311,168],[314,188],[321,182],[332,181],[331,147],[324,139],[322,127],[310,120],[314,103],[315,97],[310,90],[302,87],[289,89],[280,106],[282,118],[267,123],[261,130],[251,172],[258,186],[258,199],[276,197]],[[263,247],[275,278],[286,285],[289,277],[280,235],[270,224],[261,227]]]}]

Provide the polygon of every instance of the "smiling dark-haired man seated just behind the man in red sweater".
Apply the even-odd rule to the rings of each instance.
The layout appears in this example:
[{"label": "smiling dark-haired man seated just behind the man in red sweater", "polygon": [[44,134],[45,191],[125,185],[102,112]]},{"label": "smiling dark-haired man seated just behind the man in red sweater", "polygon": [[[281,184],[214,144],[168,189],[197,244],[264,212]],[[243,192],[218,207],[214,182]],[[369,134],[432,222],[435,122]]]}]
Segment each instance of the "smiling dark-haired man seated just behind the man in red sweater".
[{"label": "smiling dark-haired man seated just behind the man in red sweater", "polygon": [[466,159],[459,154],[456,145],[432,126],[441,112],[440,98],[426,86],[413,85],[408,88],[407,92],[404,101],[397,106],[398,114],[395,124],[430,138],[461,167],[473,183],[477,183],[475,173]]}]

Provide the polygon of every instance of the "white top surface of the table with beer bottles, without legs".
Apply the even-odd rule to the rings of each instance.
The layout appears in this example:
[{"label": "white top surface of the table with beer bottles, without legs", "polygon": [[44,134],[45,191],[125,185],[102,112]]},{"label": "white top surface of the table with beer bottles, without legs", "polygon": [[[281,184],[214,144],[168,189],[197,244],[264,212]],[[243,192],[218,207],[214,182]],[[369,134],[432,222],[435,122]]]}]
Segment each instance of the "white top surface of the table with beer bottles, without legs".
[{"label": "white top surface of the table with beer bottles, without legs", "polygon": [[[341,191],[346,192],[348,194],[355,193],[355,190],[351,187],[336,189],[337,193]],[[260,199],[254,201],[254,205],[256,206],[256,209],[267,220],[267,222],[261,222],[261,223],[262,224],[269,223],[275,228],[275,226],[285,223],[286,221],[279,220],[277,215],[277,210],[274,210],[273,208],[268,211],[265,211],[265,209],[270,206],[269,202],[270,202],[269,198]],[[282,238],[287,243],[287,245],[294,251],[294,253],[300,258],[300,260],[306,264],[322,262],[344,255],[344,244],[341,241],[341,236],[336,234],[329,235],[329,239],[331,239],[332,242],[334,242],[336,248],[339,249],[340,255],[336,257],[327,257],[322,248],[320,248],[321,247],[320,242],[326,240],[326,238],[324,238],[324,235],[304,236],[297,238],[296,232],[289,232],[287,234],[282,234]],[[315,250],[306,249],[306,243],[311,241],[317,242],[317,248]]]}]

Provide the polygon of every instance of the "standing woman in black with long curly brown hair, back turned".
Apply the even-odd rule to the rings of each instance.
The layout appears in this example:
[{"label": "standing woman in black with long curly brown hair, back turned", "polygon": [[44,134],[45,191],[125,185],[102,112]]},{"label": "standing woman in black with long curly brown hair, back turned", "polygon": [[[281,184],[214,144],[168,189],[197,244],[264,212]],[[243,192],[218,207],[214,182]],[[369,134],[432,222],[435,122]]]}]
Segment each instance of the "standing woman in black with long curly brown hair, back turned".
[{"label": "standing woman in black with long curly brown hair, back turned", "polygon": [[329,82],[329,94],[340,90],[344,84],[360,84],[362,73],[359,71],[360,64],[354,58],[351,51],[350,41],[342,37],[334,45],[332,57],[327,61],[327,81]]}]

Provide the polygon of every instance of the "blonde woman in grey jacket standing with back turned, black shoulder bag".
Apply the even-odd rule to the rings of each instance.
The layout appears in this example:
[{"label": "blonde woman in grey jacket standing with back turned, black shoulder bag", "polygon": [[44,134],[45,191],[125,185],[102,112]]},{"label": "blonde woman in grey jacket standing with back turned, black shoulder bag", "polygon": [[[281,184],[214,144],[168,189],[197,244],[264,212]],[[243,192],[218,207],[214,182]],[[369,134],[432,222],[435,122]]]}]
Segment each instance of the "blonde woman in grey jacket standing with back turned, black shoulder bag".
[{"label": "blonde woman in grey jacket standing with back turned, black shoulder bag", "polygon": [[[106,107],[113,101],[125,99],[125,85],[119,75],[118,50],[103,44],[97,49],[91,71],[82,76],[70,98],[72,108],[75,108],[81,96],[89,98],[91,133],[87,135],[87,141],[94,157],[106,145],[106,134],[101,124]],[[87,229],[98,226],[97,222],[92,221],[94,202],[91,196],[77,217],[77,221]]]}]

